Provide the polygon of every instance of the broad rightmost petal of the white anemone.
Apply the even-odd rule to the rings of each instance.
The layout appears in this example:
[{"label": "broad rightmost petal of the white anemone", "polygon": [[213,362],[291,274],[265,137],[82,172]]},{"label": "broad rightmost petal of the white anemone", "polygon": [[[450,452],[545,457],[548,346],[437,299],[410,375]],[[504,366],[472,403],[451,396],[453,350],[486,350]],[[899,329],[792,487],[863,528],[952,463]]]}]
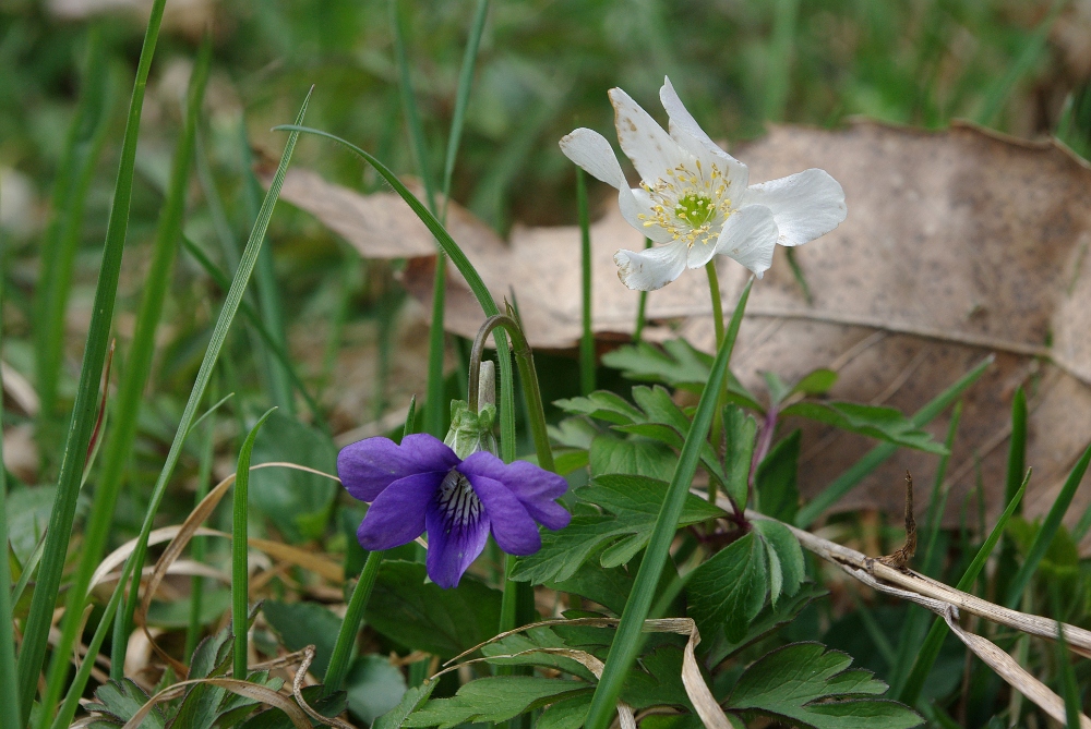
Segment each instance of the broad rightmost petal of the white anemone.
[{"label": "broad rightmost petal of the white anemone", "polygon": [[745,204],[772,210],[781,245],[803,245],[825,235],[844,220],[847,212],[841,185],[819,169],[753,185],[746,191]]}]

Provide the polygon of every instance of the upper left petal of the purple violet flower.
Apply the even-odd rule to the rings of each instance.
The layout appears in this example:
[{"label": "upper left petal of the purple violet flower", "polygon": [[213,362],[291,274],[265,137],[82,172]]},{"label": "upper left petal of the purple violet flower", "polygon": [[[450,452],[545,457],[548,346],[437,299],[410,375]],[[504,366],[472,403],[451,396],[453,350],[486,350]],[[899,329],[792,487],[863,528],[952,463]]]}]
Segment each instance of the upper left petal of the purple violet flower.
[{"label": "upper left petal of the purple violet flower", "polygon": [[427,434],[406,436],[400,446],[388,438],[368,438],[341,449],[337,454],[337,475],[353,497],[374,501],[399,478],[418,473],[446,473],[457,463],[453,450]]}]

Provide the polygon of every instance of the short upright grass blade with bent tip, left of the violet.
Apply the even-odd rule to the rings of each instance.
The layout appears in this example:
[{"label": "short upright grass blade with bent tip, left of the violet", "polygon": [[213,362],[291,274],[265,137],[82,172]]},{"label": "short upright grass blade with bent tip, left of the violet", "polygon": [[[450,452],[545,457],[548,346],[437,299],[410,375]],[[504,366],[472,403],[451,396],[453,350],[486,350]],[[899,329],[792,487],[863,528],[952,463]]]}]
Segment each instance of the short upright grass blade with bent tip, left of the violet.
[{"label": "short upright grass blade with bent tip, left of the violet", "polygon": [[250,455],[257,440],[257,432],[276,411],[269,408],[257,418],[239,450],[239,465],[235,470],[235,495],[231,502],[231,632],[235,634],[233,676],[247,680],[247,655],[250,617]]}]

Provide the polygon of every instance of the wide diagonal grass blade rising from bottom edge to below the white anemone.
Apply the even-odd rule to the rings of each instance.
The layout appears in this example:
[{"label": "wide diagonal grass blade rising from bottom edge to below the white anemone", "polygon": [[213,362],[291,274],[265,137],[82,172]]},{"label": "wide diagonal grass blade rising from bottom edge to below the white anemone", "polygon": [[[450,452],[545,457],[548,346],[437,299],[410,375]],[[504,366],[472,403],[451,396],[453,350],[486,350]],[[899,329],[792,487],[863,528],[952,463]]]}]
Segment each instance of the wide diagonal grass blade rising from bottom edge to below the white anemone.
[{"label": "wide diagonal grass blade rising from bottom edge to below the white anemone", "polygon": [[628,675],[628,669],[636,660],[636,654],[642,644],[640,633],[644,629],[644,620],[651,608],[651,600],[655,597],[659,578],[663,572],[663,564],[670,556],[671,542],[674,539],[679,518],[682,515],[682,507],[690,493],[690,482],[693,481],[693,474],[697,470],[700,448],[707,442],[706,437],[712,424],[717,400],[727,377],[731,349],[734,347],[735,336],[739,333],[739,325],[742,323],[743,311],[746,308],[746,300],[750,296],[752,285],[753,279],[746,284],[739,297],[739,305],[735,306],[735,313],[731,317],[728,333],[716,355],[716,361],[712,363],[708,384],[697,403],[697,412],[694,414],[690,435],[682,446],[674,476],[667,489],[667,496],[663,499],[659,517],[656,519],[651,539],[648,542],[644,559],[640,560],[640,569],[636,574],[628,600],[625,603],[625,609],[622,611],[621,623],[618,625],[618,632],[610,645],[602,678],[595,688],[595,695],[591,698],[591,706],[587,712],[584,725],[587,729],[607,729],[610,726],[618,705],[618,696],[621,694],[622,683]]}]

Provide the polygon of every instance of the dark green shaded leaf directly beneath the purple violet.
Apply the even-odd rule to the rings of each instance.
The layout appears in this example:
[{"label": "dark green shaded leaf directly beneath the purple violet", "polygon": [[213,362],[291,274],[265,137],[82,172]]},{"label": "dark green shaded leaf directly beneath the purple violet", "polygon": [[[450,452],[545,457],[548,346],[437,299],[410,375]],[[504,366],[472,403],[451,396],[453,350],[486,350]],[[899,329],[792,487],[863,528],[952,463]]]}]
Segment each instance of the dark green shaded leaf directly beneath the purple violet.
[{"label": "dark green shaded leaf directly beneath the purple violet", "polygon": [[407,647],[451,658],[496,633],[501,593],[469,575],[457,587],[424,584],[419,562],[384,561],[364,612],[368,624]]}]

